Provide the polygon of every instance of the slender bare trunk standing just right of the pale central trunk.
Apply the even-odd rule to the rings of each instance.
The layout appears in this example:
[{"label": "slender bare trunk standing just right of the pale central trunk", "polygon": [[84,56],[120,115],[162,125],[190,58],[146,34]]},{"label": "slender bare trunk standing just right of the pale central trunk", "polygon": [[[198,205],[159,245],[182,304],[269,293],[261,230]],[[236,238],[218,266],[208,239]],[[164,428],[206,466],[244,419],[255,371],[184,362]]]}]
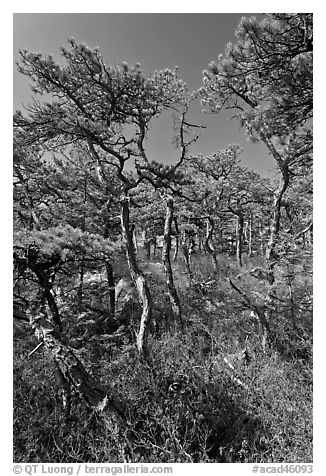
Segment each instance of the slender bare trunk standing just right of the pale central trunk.
[{"label": "slender bare trunk standing just right of the pale central trunk", "polygon": [[162,261],[165,270],[165,282],[168,290],[169,299],[172,306],[174,319],[181,323],[181,306],[177,290],[173,282],[173,273],[170,260],[171,251],[171,225],[173,220],[173,200],[169,198],[166,202],[166,216],[164,224]]}]

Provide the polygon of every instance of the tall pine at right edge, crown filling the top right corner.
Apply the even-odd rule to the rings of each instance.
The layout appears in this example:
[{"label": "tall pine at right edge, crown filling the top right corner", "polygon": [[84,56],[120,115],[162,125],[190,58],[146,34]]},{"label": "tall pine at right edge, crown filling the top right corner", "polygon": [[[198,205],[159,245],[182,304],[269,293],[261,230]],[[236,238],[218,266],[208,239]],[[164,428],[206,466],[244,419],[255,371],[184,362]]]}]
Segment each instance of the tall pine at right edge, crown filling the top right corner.
[{"label": "tall pine at right edge, crown filling the top right corner", "polygon": [[214,112],[232,111],[276,161],[279,185],[266,247],[273,267],[283,195],[300,164],[311,160],[312,14],[242,18],[236,37],[204,71],[202,104]]}]

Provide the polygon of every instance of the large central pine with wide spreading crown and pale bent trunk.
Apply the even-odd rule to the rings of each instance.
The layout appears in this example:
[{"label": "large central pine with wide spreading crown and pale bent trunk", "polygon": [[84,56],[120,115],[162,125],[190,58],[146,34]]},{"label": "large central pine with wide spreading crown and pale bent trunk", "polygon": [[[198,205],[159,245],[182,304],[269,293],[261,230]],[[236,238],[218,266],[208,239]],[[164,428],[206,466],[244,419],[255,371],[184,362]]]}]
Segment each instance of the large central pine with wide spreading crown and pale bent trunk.
[{"label": "large central pine with wide spreading crown and pale bent trunk", "polygon": [[[18,141],[25,145],[41,143],[48,149],[65,150],[81,142],[97,167],[103,193],[108,190],[121,201],[121,228],[131,277],[137,287],[143,312],[137,346],[146,354],[147,327],[151,317],[151,297],[139,268],[129,223],[129,191],[145,179],[162,178],[158,164],[146,156],[144,141],[151,120],[165,109],[183,103],[185,83],[177,71],[165,69],[145,77],[139,64],[109,67],[98,49],[75,40],[62,48],[64,65],[51,56],[20,52],[19,71],[33,82],[33,92],[49,95],[50,102],[27,107],[27,115],[17,112],[14,127]],[[133,162],[136,175],[126,171]],[[146,174],[150,167],[151,171]],[[115,170],[118,185],[112,184],[107,170]],[[165,168],[166,181],[174,173]]]}]

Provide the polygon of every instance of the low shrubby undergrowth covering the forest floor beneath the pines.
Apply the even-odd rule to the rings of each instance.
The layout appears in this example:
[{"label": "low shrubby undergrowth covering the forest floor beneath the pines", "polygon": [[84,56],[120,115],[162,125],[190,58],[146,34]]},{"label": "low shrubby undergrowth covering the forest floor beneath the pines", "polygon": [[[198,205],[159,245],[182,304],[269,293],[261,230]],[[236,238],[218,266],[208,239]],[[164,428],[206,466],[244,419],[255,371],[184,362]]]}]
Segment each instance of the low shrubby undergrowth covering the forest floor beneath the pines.
[{"label": "low shrubby undergrowth covering the forest floor beneath the pines", "polygon": [[[173,263],[180,327],[172,321],[159,256],[141,258],[154,300],[151,366],[139,360],[133,332],[115,343],[88,332],[75,345],[82,323],[69,306],[62,309],[76,355],[128,402],[138,440],[133,461],[312,462],[312,312],[304,305],[311,278],[298,274],[293,284],[296,329],[293,309],[279,294],[270,321],[273,340],[264,351],[257,323],[226,279],[257,266],[257,259],[245,260],[239,270],[232,257],[220,257],[215,272],[208,256],[194,255],[191,280],[181,258]],[[126,275],[125,262],[118,268],[118,278]],[[246,290],[255,286],[241,283]],[[137,305],[129,312],[135,329]],[[15,322],[14,460],[122,462],[121,448],[77,395],[66,418],[44,351],[27,358],[36,344],[28,325]]]}]

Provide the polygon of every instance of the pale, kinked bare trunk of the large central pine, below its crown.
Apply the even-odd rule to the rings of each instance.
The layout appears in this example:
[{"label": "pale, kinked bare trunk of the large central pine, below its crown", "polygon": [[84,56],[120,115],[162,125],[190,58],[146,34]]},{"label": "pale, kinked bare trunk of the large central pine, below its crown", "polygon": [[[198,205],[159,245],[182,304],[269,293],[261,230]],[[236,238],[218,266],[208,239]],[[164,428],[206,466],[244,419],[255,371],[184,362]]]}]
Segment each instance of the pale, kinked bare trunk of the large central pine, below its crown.
[{"label": "pale, kinked bare trunk of the large central pine, below its crown", "polygon": [[148,338],[148,325],[152,315],[152,299],[150,291],[145,279],[145,276],[141,272],[135,256],[135,248],[132,240],[132,234],[130,232],[129,225],[129,200],[128,197],[124,197],[121,200],[121,229],[124,244],[126,246],[127,259],[129,264],[129,270],[131,279],[134,281],[138,291],[139,300],[142,303],[143,311],[140,319],[140,327],[137,335],[137,348],[139,355],[142,357],[148,357],[147,338]]}]

